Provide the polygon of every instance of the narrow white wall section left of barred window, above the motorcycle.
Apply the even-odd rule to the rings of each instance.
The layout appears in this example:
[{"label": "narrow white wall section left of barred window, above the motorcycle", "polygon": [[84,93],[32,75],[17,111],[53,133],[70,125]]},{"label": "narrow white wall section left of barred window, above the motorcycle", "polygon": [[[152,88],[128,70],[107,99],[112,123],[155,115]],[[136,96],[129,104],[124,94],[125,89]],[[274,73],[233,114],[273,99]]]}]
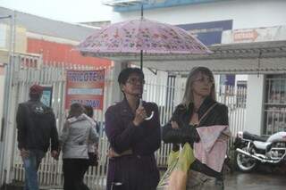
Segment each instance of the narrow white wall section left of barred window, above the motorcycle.
[{"label": "narrow white wall section left of barred window, above the motorcycle", "polygon": [[260,135],[262,132],[262,113],[264,102],[265,75],[248,75],[248,99],[246,111],[246,130]]}]

